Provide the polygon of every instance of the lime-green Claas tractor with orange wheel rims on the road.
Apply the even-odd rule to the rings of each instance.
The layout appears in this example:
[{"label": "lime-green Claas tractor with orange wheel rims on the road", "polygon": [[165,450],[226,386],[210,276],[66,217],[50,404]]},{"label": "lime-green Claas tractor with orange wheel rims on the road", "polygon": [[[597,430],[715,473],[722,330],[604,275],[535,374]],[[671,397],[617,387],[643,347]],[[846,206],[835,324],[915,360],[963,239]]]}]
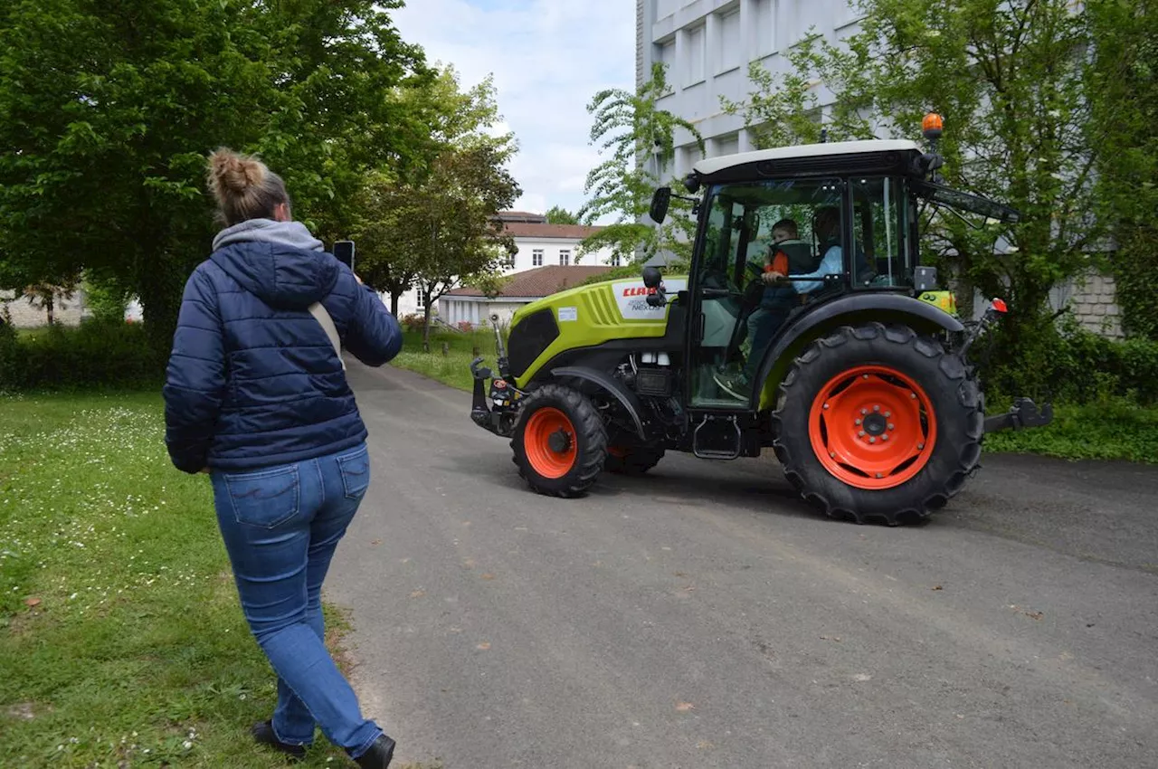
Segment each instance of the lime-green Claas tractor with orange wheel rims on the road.
[{"label": "lime-green Claas tractor with orange wheel rims on the road", "polygon": [[[547,296],[514,314],[506,349],[496,323],[498,373],[471,362],[471,419],[511,440],[520,475],[544,495],[579,496],[602,471],[645,473],[668,451],[733,460],[771,447],[828,515],[928,517],[976,470],[987,432],[1051,419],[1028,398],[984,415],[966,353],[1005,306],[995,299],[962,322],[919,265],[918,221],[928,205],[1018,214],[945,186],[940,164],[906,140],[696,163],[684,181],[703,190],[686,198],[698,222],[688,274],[646,266],[642,279]],[[653,220],[670,198],[657,190]]]}]

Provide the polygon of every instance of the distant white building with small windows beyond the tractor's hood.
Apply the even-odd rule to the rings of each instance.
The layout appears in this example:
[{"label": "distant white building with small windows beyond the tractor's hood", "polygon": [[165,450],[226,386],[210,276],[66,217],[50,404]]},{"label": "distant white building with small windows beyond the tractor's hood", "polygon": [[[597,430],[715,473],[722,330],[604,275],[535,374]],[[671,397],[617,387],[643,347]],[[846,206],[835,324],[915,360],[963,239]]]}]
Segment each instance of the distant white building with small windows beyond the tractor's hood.
[{"label": "distant white building with small windows beyond the tractor's hood", "polygon": [[[580,254],[579,246],[584,239],[600,232],[602,227],[549,225],[545,215],[527,211],[503,211],[499,218],[505,230],[514,236],[515,246],[519,248],[514,258],[504,266],[504,274],[544,266],[617,266],[610,249]],[[383,296],[383,300],[389,306],[389,295]],[[422,308],[423,298],[418,290],[409,291],[398,299],[398,317],[422,313]],[[472,316],[457,320],[471,318]]]}]

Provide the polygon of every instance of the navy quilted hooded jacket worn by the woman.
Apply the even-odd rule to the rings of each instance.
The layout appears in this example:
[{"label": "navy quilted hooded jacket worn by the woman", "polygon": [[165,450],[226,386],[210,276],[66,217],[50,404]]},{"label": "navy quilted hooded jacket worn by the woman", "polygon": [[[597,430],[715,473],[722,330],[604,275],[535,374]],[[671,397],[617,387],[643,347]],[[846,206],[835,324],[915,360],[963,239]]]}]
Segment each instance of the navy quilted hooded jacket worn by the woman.
[{"label": "navy quilted hooded jacket worn by the woman", "polygon": [[164,386],[166,444],[185,473],[254,470],[366,438],[342,361],[307,309],[321,301],[343,347],[369,366],[402,349],[378,295],[298,222],[223,230],[185,284]]}]

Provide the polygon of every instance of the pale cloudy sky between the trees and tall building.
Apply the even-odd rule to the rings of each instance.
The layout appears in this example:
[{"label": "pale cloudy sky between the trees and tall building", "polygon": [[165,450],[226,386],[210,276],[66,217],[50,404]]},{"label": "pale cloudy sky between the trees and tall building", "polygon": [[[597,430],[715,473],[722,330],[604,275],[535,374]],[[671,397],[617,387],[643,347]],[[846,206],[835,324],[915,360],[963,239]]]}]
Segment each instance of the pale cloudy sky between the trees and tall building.
[{"label": "pale cloudy sky between the trees and tall building", "polygon": [[599,162],[587,103],[602,88],[635,86],[635,3],[408,0],[393,16],[432,64],[453,64],[464,88],[493,73],[499,111],[519,140],[515,207],[578,210]]}]

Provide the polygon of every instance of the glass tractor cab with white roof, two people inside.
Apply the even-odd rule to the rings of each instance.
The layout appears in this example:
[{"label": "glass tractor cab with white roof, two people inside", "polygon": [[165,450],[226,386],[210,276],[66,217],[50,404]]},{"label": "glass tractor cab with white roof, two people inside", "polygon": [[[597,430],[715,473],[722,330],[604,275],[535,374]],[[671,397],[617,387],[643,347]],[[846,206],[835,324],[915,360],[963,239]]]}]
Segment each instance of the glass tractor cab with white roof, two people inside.
[{"label": "glass tractor cab with white roof, two people inside", "polygon": [[[697,163],[684,184],[704,195],[677,300],[690,318],[689,405],[767,407],[775,343],[835,300],[863,293],[863,310],[896,306],[870,296],[888,294],[955,315],[936,270],[919,265],[922,207],[998,221],[1016,221],[1017,212],[926,178],[936,164],[913,141],[805,145]],[[667,188],[657,192],[653,219],[666,217],[669,197]]]}]

